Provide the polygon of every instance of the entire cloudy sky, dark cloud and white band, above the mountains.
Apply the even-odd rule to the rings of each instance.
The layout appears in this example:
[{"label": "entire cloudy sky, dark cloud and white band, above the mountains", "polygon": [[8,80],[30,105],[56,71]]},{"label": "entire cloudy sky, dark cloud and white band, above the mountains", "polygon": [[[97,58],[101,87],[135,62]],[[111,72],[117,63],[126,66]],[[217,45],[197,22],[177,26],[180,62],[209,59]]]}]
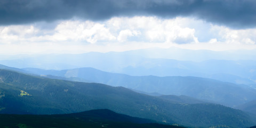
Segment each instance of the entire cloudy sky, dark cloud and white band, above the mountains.
[{"label": "entire cloudy sky, dark cloud and white band, above the mountains", "polygon": [[254,0],[1,0],[0,54],[256,49]]}]

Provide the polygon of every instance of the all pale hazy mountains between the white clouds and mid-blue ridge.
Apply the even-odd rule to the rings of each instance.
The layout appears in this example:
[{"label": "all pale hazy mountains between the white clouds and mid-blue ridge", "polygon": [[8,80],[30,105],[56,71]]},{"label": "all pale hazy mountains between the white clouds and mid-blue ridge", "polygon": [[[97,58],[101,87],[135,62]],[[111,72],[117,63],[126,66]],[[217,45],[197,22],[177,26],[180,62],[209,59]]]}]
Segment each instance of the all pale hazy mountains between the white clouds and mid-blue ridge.
[{"label": "all pale hazy mountains between the white clouds and mid-blue ridge", "polygon": [[255,58],[256,50],[217,52],[171,47],[107,53],[13,55],[0,58],[0,63],[17,68],[57,70],[92,67],[132,76],[207,77],[256,88]]}]

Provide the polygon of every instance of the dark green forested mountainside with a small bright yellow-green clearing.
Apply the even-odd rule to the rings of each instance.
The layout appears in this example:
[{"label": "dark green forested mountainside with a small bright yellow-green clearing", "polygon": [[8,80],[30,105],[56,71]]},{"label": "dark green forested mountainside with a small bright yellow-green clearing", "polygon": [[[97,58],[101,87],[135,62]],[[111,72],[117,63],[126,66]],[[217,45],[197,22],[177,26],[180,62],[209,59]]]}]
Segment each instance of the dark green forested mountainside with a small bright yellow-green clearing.
[{"label": "dark green forested mountainside with a small bright yellow-green clearing", "polygon": [[64,114],[91,109],[194,127],[255,125],[241,110],[211,103],[174,103],[124,87],[48,79],[0,69],[0,113]]}]

